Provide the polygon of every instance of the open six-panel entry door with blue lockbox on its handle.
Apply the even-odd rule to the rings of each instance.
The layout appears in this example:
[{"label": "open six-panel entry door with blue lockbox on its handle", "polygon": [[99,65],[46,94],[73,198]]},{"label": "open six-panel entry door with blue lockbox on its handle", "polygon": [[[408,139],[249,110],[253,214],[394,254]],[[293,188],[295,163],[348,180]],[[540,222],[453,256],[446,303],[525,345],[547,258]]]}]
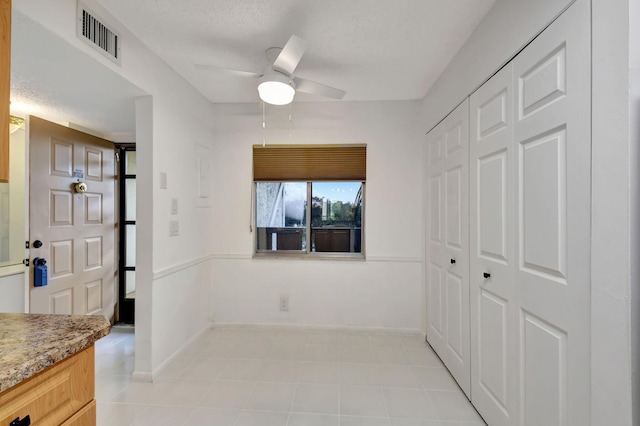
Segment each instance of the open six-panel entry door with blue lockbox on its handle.
[{"label": "open six-panel entry door with blue lockbox on its handle", "polygon": [[[31,260],[45,258],[46,287],[33,287],[30,311],[114,316],[116,247],[111,142],[37,117],[29,119]],[[78,193],[78,181],[87,191]],[[40,248],[33,242],[42,242]]]}]

